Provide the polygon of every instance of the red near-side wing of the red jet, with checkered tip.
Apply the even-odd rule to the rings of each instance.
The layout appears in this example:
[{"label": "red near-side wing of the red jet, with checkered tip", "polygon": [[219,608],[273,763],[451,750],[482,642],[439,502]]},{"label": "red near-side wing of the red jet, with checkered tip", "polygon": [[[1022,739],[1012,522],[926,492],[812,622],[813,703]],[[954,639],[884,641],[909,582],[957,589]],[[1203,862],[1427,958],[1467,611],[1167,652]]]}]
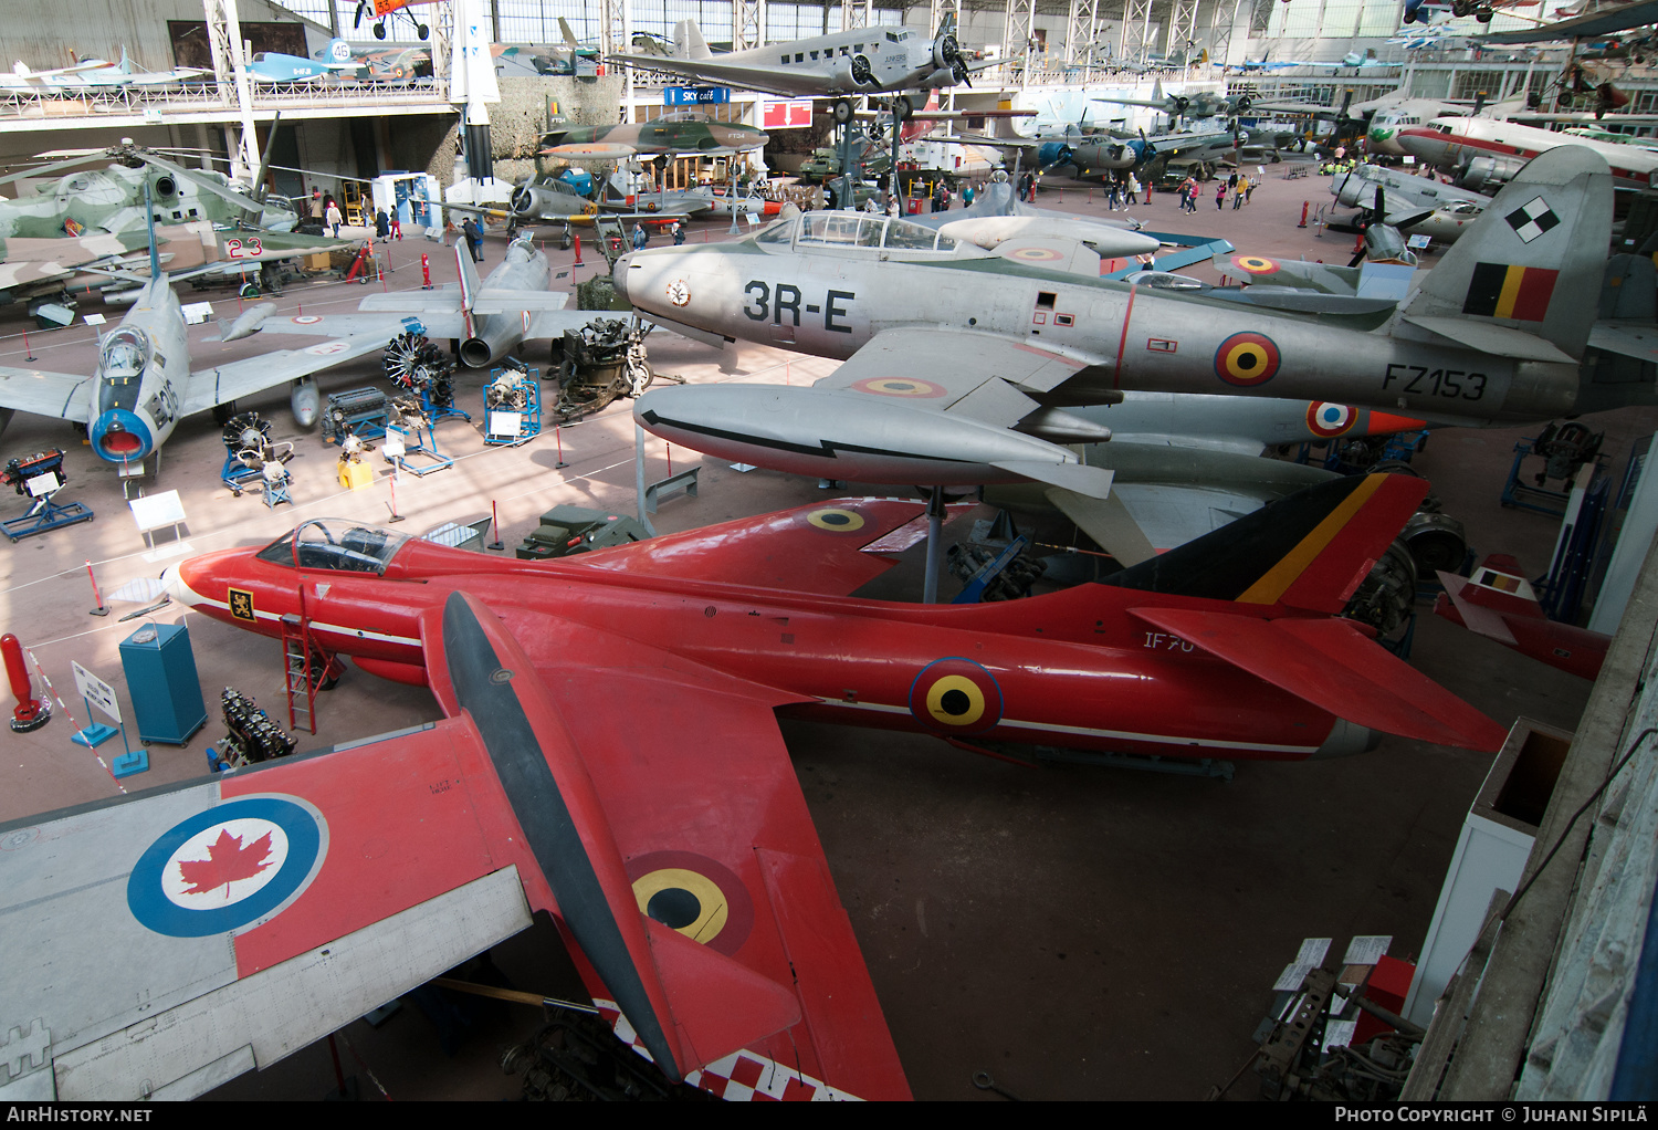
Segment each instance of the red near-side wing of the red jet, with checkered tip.
[{"label": "red near-side wing of the red jet, with checkered tip", "polygon": [[[673,1027],[652,1035],[648,1009],[622,1002],[618,977],[599,976],[584,961],[595,947],[569,914],[559,918],[617,1035],[647,1050],[673,1039],[695,1047],[681,1060],[686,1082],[728,1100],[907,1098],[778,732],[773,707],[789,699],[557,616],[497,611],[531,650],[589,773],[625,873],[627,909],[650,929],[663,971]],[[793,1020],[778,1024],[779,1004]]]}]

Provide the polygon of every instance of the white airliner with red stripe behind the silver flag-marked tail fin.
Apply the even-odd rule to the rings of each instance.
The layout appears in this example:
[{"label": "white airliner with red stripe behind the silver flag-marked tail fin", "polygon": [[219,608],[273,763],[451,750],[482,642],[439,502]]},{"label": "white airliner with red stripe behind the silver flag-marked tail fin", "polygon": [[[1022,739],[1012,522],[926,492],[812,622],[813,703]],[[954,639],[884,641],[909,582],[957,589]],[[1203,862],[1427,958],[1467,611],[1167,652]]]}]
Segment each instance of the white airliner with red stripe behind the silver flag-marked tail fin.
[{"label": "white airliner with red stripe behind the silver flag-marked tail fin", "polygon": [[1394,139],[1418,161],[1452,169],[1464,188],[1500,184],[1529,159],[1559,146],[1600,154],[1612,166],[1612,183],[1620,189],[1645,191],[1658,173],[1658,153],[1489,118],[1434,118],[1399,129]]}]

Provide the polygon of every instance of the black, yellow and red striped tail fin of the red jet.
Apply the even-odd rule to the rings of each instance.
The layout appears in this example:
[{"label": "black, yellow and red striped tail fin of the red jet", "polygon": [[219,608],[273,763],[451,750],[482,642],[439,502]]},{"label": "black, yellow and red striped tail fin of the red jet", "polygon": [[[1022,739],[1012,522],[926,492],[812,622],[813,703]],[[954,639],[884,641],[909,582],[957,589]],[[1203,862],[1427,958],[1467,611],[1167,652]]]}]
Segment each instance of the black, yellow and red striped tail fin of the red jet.
[{"label": "black, yellow and red striped tail fin of the red jet", "polygon": [[1426,480],[1403,475],[1331,480],[1124,569],[1106,584],[1335,614],[1426,494]]}]

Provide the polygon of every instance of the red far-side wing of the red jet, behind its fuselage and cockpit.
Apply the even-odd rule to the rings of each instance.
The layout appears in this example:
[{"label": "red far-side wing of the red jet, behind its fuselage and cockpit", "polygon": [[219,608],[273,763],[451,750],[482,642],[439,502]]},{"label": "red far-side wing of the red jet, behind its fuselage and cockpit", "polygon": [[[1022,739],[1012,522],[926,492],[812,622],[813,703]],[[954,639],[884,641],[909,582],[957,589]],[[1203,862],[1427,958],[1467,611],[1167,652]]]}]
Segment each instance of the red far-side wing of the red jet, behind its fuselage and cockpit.
[{"label": "red far-side wing of the red jet, behind its fuselage and cockpit", "polygon": [[[972,504],[955,504],[972,509]],[[617,572],[763,584],[851,596],[927,536],[927,508],[904,498],[836,498],[764,518],[599,549],[582,564]]]}]

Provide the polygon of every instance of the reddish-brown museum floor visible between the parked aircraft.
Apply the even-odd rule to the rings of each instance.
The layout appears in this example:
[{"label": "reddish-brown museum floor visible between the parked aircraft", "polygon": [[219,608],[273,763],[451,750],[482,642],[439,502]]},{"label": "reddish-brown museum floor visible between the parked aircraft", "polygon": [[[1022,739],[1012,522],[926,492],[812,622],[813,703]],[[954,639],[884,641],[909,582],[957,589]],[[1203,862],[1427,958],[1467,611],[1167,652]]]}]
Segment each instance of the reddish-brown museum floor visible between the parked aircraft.
[{"label": "reddish-brown museum floor visible between the parked aircraft", "polygon": [[[1240,211],[1200,206],[1195,216],[1180,216],[1174,197],[1159,194],[1131,214],[1154,229],[1220,234],[1240,251],[1345,264],[1351,236],[1320,239],[1315,229],[1297,227],[1303,201],[1316,207],[1330,199],[1328,181],[1282,179],[1285,168],[1270,166]],[[1089,194],[1086,186],[1045,191],[1041,202],[1103,211],[1099,192]],[[726,227],[695,224],[690,239],[720,241]],[[453,277],[446,249],[410,241],[393,246],[390,280],[371,285],[419,285],[421,251],[431,254],[436,280]],[[491,237],[484,270],[501,254],[501,239]],[[549,254],[555,272],[570,269],[570,252]],[[587,279],[595,262],[602,265],[592,251],[585,257],[587,265],[557,285]],[[1207,267],[1194,274],[1214,279]],[[290,289],[279,305],[284,312],[345,312],[368,292],[355,284],[303,285]],[[207,297],[216,312],[234,315],[235,297]],[[119,307],[108,310],[111,322],[123,314]],[[23,329],[15,312],[0,320],[0,363],[25,363]],[[191,334],[196,367],[295,343],[255,337],[222,347],[206,337],[207,327]],[[40,367],[61,372],[90,372],[95,343],[93,329],[81,325],[28,337]],[[529,360],[544,363],[545,357],[536,347]],[[693,382],[806,383],[832,368],[764,347],[741,345],[718,355],[657,335],[652,360],[658,372]],[[322,385],[323,392],[353,388],[378,377],[378,358],[368,358],[323,373]],[[479,387],[476,373],[458,382],[458,403],[474,416]],[[335,448],[298,431],[284,392],[242,407],[267,413],[275,436],[295,443],[295,506],[269,511],[257,496],[232,498],[219,485],[219,426],[211,416],[187,420],[166,448],[159,481],[146,490],[179,491],[194,551],[262,544],[302,518],[388,518],[386,481],[340,491]],[[1613,471],[1622,473],[1630,443],[1655,430],[1658,413],[1607,413],[1588,423],[1608,431],[1605,450]],[[1479,553],[1515,553],[1537,574],[1547,566],[1555,519],[1497,504],[1520,435],[1535,435],[1535,428],[1436,431],[1416,468],[1433,480],[1446,509],[1466,523]],[[549,426],[522,450],[487,448],[478,428],[461,421],[441,425],[438,436],[456,465],[398,483],[396,508],[410,533],[473,521],[494,504],[511,551],[554,504],[633,506],[627,403],[557,433]],[[557,468],[560,443],[565,468]],[[184,748],[149,747],[151,770],[121,785],[101,763],[111,747],[119,753],[119,740],[101,747],[103,758],[70,742],[73,728],[86,722],[83,702],[73,697],[70,662],[116,685],[131,718],[118,645],[139,627],[139,621],[116,621],[138,609],[136,602],[111,602],[109,617],[88,616],[93,594],[85,563],[109,596],[128,581],[154,577],[176,554],[146,551],[113,471],[68,425],[18,416],[7,433],[5,458],[45,446],[68,451],[70,486],[61,498],[86,503],[98,519],[10,546],[0,566],[0,609],[5,631],[38,657],[75,723],[58,717],[32,735],[0,733],[7,757],[0,762],[0,820],[111,796],[121,785],[136,791],[197,777],[206,768],[204,747],[224,735],[221,687],[254,695],[274,718],[287,722],[275,644],[162,609],[161,621],[187,619],[191,627],[207,727]],[[670,465],[683,470],[698,458],[665,450],[658,440],[648,441],[647,455],[652,480]],[[864,491],[854,485],[847,493]],[[882,486],[877,493],[892,491]],[[812,481],[771,471],[739,475],[710,461],[700,498],[665,504],[657,526],[685,529],[822,496]],[[12,499],[0,513],[22,509],[22,499]],[[1426,606],[1419,612],[1413,662],[1426,674],[1502,723],[1519,714],[1565,728],[1577,723],[1587,682],[1467,636],[1426,614]],[[424,690],[351,672],[323,695],[318,735],[302,735],[300,748],[434,717]],[[1235,780],[1222,783],[1078,767],[1030,770],[917,735],[796,722],[783,723],[783,732],[919,1098],[995,1098],[972,1085],[977,1070],[991,1072],[1001,1087],[1026,1098],[1202,1097],[1248,1059],[1250,1032],[1270,1002],[1272,982],[1303,938],[1333,938],[1333,956],[1340,956],[1353,934],[1391,934],[1389,952],[1414,957],[1462,816],[1491,762],[1489,755],[1386,738],[1371,753],[1336,762],[1240,763]],[[519,989],[580,994],[550,923],[492,956]],[[486,1009],[449,1057],[434,1025],[405,1002],[380,1029],[361,1020],[345,1029],[348,1047],[340,1054],[365,1098],[380,1098],[380,1087],[395,1098],[504,1098],[517,1095],[517,1080],[496,1069],[499,1050],[527,1037],[537,1022],[532,1009]],[[327,1042],[320,1042],[214,1097],[318,1098],[333,1079]],[[1253,1079],[1245,1077],[1229,1097],[1253,1095]]]}]

